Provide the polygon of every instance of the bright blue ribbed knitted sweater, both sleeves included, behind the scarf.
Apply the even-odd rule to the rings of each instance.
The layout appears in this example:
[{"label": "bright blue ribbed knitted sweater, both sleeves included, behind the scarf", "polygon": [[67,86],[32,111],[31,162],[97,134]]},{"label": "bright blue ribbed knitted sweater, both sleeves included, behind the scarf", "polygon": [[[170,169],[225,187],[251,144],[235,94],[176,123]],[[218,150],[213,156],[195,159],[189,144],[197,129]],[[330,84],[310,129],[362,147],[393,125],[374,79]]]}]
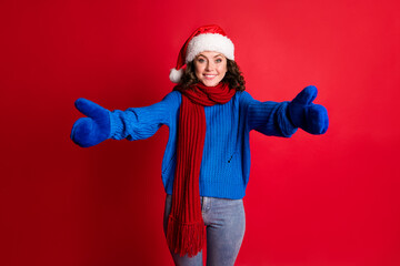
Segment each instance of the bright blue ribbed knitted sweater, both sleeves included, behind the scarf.
[{"label": "bright blue ribbed knitted sweater, both sleeves included, behind the scarf", "polygon": [[[111,137],[130,141],[152,136],[161,125],[169,127],[162,160],[162,183],[172,194],[177,162],[180,92],[173,91],[156,104],[111,112]],[[249,133],[291,136],[297,127],[287,115],[288,102],[260,102],[248,92],[237,92],[226,104],[204,106],[206,140],[200,170],[200,195],[242,198],[250,174]]]}]

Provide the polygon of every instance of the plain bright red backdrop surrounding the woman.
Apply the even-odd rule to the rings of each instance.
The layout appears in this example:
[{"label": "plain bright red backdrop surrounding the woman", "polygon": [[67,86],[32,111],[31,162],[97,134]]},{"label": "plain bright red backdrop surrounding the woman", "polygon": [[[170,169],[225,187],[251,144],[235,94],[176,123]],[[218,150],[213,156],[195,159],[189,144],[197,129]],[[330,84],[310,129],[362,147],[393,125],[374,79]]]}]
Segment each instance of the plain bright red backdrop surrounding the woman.
[{"label": "plain bright red backdrop surrounding the woman", "polygon": [[197,27],[220,24],[247,90],[319,88],[326,135],[251,133],[237,265],[400,265],[398,1],[2,1],[0,265],[172,265],[162,233],[163,126],[80,149],[87,98],[160,101]]}]

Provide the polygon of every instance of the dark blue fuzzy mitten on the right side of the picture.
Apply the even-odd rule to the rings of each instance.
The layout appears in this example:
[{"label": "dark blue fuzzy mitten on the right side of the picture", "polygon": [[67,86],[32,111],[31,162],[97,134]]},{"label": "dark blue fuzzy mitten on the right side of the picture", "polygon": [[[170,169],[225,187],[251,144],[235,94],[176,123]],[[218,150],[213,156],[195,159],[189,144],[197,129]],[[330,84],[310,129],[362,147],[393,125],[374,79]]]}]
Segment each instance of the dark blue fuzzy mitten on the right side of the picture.
[{"label": "dark blue fuzzy mitten on the right side of the picture", "polygon": [[289,117],[294,126],[310,134],[323,134],[328,130],[328,111],[312,101],[318,91],[313,85],[304,88],[288,105]]}]

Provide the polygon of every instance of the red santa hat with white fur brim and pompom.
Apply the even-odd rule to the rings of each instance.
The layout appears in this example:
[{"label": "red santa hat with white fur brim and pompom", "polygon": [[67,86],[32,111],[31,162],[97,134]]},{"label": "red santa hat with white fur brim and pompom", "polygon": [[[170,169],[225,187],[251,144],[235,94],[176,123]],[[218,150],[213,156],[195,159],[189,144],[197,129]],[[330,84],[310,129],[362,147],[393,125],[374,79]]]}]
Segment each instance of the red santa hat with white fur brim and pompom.
[{"label": "red santa hat with white fur brim and pompom", "polygon": [[171,69],[170,80],[179,83],[186,64],[203,51],[220,52],[226,58],[234,60],[233,42],[224,31],[216,24],[203,25],[197,29],[184,42],[178,55],[177,66]]}]

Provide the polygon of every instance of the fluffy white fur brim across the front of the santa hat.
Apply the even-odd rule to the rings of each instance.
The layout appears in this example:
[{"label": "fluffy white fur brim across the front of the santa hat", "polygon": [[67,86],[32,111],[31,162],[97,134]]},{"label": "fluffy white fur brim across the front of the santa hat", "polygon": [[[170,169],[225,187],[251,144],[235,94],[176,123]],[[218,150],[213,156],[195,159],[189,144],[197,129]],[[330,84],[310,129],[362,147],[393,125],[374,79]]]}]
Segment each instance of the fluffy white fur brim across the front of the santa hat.
[{"label": "fluffy white fur brim across the front of the santa hat", "polygon": [[190,40],[187,50],[186,63],[192,61],[203,51],[220,52],[230,60],[234,60],[233,42],[218,33],[204,33]]}]

